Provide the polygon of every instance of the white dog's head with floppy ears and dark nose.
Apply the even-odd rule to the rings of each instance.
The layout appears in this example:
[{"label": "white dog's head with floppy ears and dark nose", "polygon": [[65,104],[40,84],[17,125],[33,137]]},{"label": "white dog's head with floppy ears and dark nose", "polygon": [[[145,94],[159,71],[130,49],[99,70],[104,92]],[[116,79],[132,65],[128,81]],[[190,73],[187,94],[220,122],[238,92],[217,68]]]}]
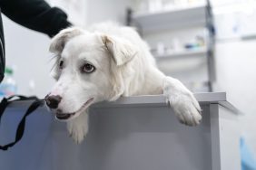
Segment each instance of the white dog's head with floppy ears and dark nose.
[{"label": "white dog's head with floppy ears and dark nose", "polygon": [[45,101],[60,120],[78,117],[95,102],[119,98],[124,90],[122,71],[137,53],[123,38],[79,28],[58,33],[50,52],[56,54],[56,83]]}]

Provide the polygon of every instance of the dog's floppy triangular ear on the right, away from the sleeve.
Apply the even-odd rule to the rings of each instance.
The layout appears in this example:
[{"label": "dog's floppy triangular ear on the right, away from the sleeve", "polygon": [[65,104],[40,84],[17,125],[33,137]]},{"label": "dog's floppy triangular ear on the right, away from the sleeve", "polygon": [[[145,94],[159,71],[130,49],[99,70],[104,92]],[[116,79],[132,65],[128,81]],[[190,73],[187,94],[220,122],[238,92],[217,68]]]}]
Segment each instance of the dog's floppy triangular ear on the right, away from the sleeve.
[{"label": "dog's floppy triangular ear on the right, away from the sleeve", "polygon": [[129,42],[123,38],[115,36],[102,36],[103,43],[107,50],[112,54],[113,61],[117,66],[121,66],[128,61],[131,61],[137,54],[138,50],[132,42]]}]

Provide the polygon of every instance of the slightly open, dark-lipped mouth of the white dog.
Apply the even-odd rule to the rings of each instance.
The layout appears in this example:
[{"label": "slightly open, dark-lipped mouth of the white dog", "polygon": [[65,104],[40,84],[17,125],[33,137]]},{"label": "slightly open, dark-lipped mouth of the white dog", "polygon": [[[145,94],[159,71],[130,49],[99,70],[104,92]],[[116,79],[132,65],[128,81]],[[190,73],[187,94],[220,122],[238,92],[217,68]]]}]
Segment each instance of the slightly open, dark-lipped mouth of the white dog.
[{"label": "slightly open, dark-lipped mouth of the white dog", "polygon": [[71,118],[75,118],[76,116],[80,115],[85,109],[87,109],[88,106],[92,103],[93,100],[94,100],[94,98],[88,99],[84,103],[84,105],[82,105],[82,107],[80,109],[78,109],[77,111],[72,112],[72,113],[63,113],[63,112],[60,112],[60,111],[57,110],[55,112],[55,117],[58,120],[69,120]]}]

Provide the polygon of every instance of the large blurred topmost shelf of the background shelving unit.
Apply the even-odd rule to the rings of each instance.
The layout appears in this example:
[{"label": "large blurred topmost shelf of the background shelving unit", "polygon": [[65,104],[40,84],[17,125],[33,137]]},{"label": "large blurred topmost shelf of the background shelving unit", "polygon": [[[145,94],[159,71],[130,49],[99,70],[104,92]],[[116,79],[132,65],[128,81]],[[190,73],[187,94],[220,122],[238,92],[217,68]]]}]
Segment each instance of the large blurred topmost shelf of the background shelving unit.
[{"label": "large blurred topmost shelf of the background shelving unit", "polygon": [[206,5],[192,5],[176,10],[155,13],[134,14],[133,23],[143,29],[143,33],[171,30],[191,26],[205,26]]}]

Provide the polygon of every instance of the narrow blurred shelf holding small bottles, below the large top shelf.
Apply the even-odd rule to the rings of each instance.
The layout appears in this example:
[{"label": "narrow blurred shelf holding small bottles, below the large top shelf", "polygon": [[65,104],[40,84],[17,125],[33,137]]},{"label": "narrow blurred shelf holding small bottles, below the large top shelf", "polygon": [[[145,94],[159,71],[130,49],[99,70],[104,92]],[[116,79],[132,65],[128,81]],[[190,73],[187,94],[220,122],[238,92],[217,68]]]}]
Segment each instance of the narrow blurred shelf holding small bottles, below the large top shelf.
[{"label": "narrow blurred shelf holding small bottles, below the large top shelf", "polygon": [[162,55],[154,55],[156,60],[162,60],[162,59],[181,59],[181,58],[187,58],[187,57],[198,57],[198,56],[206,56],[207,50],[205,48],[200,48],[197,50],[187,50],[182,52],[172,52],[172,53],[165,53]]}]

